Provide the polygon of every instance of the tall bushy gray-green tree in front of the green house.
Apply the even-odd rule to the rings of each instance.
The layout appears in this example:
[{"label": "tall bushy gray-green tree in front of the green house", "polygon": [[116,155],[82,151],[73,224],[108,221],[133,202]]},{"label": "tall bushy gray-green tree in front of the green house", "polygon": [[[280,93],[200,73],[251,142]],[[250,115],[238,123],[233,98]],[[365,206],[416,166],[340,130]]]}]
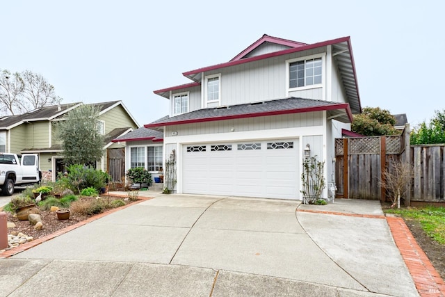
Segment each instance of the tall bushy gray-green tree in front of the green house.
[{"label": "tall bushy gray-green tree in front of the green house", "polygon": [[57,124],[57,135],[62,141],[64,161],[67,165],[94,164],[102,158],[104,138],[99,134],[99,109],[82,105],[69,111],[64,121]]}]

